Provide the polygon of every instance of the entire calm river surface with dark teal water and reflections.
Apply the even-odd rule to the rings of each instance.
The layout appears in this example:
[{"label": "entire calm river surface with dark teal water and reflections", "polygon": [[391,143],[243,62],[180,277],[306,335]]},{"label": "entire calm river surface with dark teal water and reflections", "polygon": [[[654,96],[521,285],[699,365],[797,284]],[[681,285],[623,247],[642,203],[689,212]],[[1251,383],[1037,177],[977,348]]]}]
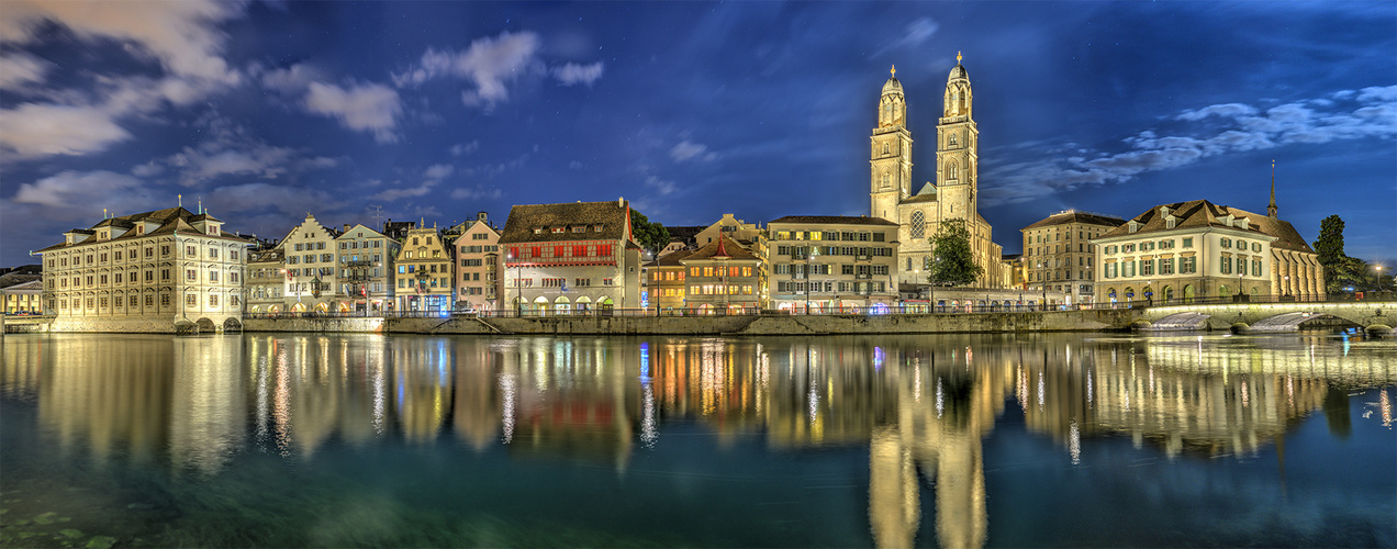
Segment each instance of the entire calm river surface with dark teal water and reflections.
[{"label": "entire calm river surface with dark teal water and reflections", "polygon": [[21,334],[0,356],[6,546],[1397,545],[1393,339]]}]

